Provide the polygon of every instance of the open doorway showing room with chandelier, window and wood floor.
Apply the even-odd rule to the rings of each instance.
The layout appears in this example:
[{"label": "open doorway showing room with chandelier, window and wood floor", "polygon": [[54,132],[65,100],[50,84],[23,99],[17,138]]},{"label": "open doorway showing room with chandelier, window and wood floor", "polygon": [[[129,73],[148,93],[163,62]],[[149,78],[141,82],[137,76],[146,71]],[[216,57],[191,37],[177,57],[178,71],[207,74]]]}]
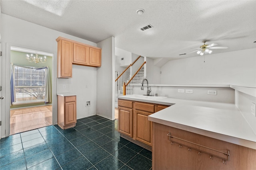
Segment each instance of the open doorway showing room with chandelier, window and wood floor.
[{"label": "open doorway showing room with chandelier, window and wood floor", "polygon": [[52,125],[52,57],[10,47],[10,135]]}]

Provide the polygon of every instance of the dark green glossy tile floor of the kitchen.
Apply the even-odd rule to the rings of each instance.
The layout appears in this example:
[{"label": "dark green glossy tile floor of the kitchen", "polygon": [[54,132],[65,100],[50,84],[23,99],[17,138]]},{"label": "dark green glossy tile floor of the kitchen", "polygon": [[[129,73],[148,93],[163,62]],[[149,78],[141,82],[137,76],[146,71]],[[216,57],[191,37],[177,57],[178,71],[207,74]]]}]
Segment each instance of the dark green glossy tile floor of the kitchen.
[{"label": "dark green glossy tile floor of the kitchen", "polygon": [[120,137],[116,121],[94,115],[0,140],[1,170],[150,170],[152,152]]}]

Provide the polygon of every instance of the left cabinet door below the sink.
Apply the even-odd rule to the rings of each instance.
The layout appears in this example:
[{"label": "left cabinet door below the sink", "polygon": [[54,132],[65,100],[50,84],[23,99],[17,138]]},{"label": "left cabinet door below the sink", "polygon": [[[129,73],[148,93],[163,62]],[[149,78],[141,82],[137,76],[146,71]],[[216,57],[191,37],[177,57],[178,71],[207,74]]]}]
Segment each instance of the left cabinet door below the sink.
[{"label": "left cabinet door below the sink", "polygon": [[132,137],[132,109],[118,107],[118,131]]}]

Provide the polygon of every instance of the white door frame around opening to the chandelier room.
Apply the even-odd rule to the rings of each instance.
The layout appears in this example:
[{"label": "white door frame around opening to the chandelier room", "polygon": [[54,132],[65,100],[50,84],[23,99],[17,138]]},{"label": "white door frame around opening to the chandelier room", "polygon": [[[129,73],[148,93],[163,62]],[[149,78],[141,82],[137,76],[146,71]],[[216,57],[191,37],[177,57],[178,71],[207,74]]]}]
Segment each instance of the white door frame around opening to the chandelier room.
[{"label": "white door frame around opening to the chandelier room", "polygon": [[[8,137],[10,135],[10,51],[11,51],[11,47],[18,47],[18,48],[22,48],[22,49],[29,49],[29,50],[33,50],[33,51],[41,51],[41,52],[45,52],[45,53],[51,53],[52,54],[52,124],[56,125],[57,123],[57,96],[56,96],[56,66],[57,66],[57,60],[56,60],[56,53],[52,52],[52,51],[48,51],[48,50],[44,50],[44,49],[35,49],[32,47],[24,47],[21,45],[15,45],[15,44],[8,44],[6,43],[6,79],[4,80],[6,84],[6,96],[5,96],[5,111],[3,111],[2,115],[5,114],[5,137]],[[3,102],[4,103],[4,102]],[[3,109],[2,109],[3,110]],[[3,117],[3,116],[2,116]],[[4,134],[2,134],[4,135]]]}]

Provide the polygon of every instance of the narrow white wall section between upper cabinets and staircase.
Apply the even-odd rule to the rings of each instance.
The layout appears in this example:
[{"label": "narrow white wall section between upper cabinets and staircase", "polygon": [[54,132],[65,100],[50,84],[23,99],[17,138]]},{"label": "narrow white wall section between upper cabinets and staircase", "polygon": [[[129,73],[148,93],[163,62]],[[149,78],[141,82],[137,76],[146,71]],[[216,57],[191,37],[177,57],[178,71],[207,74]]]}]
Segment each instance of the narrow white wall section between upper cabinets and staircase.
[{"label": "narrow white wall section between upper cabinets and staircase", "polygon": [[97,115],[114,119],[115,39],[109,37],[97,43],[102,48],[101,67],[97,68]]}]

